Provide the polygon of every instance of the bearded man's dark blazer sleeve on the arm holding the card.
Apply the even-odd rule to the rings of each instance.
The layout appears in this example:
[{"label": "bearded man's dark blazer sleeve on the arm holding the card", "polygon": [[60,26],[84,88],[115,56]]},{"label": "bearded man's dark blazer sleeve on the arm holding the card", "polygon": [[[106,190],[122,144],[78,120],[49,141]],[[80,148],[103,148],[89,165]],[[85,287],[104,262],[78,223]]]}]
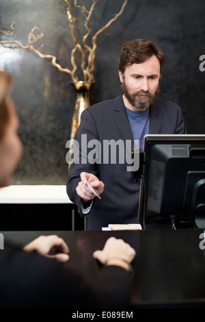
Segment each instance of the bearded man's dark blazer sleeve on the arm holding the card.
[{"label": "bearded man's dark blazer sleeve on the arm holding the card", "polygon": [[[87,214],[83,214],[81,210],[81,198],[77,195],[76,188],[81,181],[81,172],[92,173],[98,177],[96,164],[92,164],[87,157],[91,150],[90,147],[87,147],[87,144],[91,140],[97,140],[97,138],[98,134],[94,118],[89,110],[84,110],[81,114],[81,123],[74,136],[74,153],[66,184],[68,197],[75,205],[77,205],[79,213],[82,216],[87,216],[89,212]],[[94,143],[94,141],[92,142]],[[93,205],[94,202],[92,203],[92,207]],[[92,207],[90,210],[92,210]]]}]

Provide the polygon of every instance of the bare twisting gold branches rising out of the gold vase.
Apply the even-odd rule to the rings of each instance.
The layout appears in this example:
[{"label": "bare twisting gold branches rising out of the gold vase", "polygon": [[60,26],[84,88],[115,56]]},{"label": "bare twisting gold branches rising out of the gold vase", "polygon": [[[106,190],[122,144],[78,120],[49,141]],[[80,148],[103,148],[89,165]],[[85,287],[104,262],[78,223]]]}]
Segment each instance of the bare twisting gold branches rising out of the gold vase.
[{"label": "bare twisting gold branches rising out of the gold vase", "polygon": [[[77,51],[79,51],[81,55],[81,72],[83,73],[83,81],[84,82],[95,82],[94,79],[94,60],[95,60],[95,53],[97,48],[96,40],[102,32],[105,32],[106,29],[110,27],[110,25],[118,19],[118,17],[124,12],[124,8],[128,2],[128,0],[124,0],[122,3],[122,7],[120,8],[120,11],[113,16],[103,27],[101,27],[94,36],[91,36],[92,28],[90,27],[90,19],[92,17],[92,14],[94,12],[94,8],[98,2],[98,0],[92,0],[92,5],[90,7],[90,10],[87,10],[84,5],[79,5],[78,0],[59,0],[64,1],[64,5],[61,5],[61,7],[66,12],[67,18],[68,18],[68,25],[70,28],[71,36],[72,36],[72,42],[73,42],[73,49],[70,54],[70,63],[72,65],[72,69],[63,68],[60,64],[57,64],[56,56],[55,55],[47,55],[41,52],[43,44],[40,46],[40,48],[33,47],[33,43],[38,42],[38,40],[42,37],[44,37],[44,34],[38,27],[33,27],[31,29],[31,32],[28,36],[28,44],[23,45],[21,42],[16,40],[14,34],[15,34],[15,28],[14,28],[14,22],[12,22],[12,25],[10,26],[11,30],[8,31],[0,31],[1,33],[5,34],[5,36],[12,37],[14,40],[0,40],[0,44],[6,47],[6,44],[13,44],[14,47],[9,48],[19,48],[19,49],[27,49],[29,51],[33,51],[37,55],[40,56],[40,58],[46,58],[50,59],[53,66],[57,67],[59,71],[68,73],[72,77],[72,82],[77,82],[79,80],[79,77],[77,76],[78,72],[78,66],[75,60],[75,55]],[[65,8],[66,5],[66,8]],[[83,18],[85,19],[83,22],[79,21],[79,19],[74,17],[74,10],[79,10]],[[77,33],[77,22],[79,23],[79,30],[81,32],[81,38],[78,40],[78,33]],[[85,32],[83,34],[82,32],[82,26],[85,29]],[[78,31],[79,31],[78,30]],[[88,43],[88,38],[91,37],[90,44]]]}]

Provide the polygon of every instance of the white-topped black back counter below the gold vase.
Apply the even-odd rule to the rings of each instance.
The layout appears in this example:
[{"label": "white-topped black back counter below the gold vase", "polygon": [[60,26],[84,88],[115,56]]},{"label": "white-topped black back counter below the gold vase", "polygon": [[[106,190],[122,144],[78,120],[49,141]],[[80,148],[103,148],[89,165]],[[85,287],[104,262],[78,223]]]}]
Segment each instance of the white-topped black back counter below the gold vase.
[{"label": "white-topped black back counter below the gold vase", "polygon": [[86,219],[68,198],[66,185],[1,188],[0,212],[1,230],[86,230]]}]

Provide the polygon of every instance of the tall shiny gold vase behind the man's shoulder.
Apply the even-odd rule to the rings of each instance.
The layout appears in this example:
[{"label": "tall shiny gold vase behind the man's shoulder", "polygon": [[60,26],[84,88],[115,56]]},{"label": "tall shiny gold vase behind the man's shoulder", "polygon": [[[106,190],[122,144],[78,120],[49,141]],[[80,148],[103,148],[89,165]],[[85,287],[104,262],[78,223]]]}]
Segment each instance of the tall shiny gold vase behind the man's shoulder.
[{"label": "tall shiny gold vase behind the man's shoulder", "polygon": [[[81,121],[81,113],[83,110],[90,106],[90,89],[94,83],[79,81],[76,83],[71,83],[74,86],[74,89],[77,93],[77,98],[74,106],[74,111],[72,114],[72,122],[70,125],[70,135],[68,140],[74,140],[75,133],[77,132],[77,128],[79,127]],[[68,170],[70,168],[70,164],[68,164]]]}]

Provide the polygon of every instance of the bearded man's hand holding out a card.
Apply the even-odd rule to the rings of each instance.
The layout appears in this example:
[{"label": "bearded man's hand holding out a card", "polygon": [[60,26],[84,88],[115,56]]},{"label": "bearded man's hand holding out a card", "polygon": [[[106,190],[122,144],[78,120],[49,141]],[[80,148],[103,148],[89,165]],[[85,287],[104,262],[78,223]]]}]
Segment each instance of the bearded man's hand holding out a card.
[{"label": "bearded man's hand holding out a card", "polygon": [[92,193],[90,188],[88,188],[87,181],[90,182],[90,185],[98,191],[99,195],[103,193],[105,186],[105,184],[103,184],[103,182],[100,181],[98,177],[96,177],[92,173],[81,172],[81,182],[79,182],[76,191],[83,202],[87,202],[96,197],[96,195]]}]

